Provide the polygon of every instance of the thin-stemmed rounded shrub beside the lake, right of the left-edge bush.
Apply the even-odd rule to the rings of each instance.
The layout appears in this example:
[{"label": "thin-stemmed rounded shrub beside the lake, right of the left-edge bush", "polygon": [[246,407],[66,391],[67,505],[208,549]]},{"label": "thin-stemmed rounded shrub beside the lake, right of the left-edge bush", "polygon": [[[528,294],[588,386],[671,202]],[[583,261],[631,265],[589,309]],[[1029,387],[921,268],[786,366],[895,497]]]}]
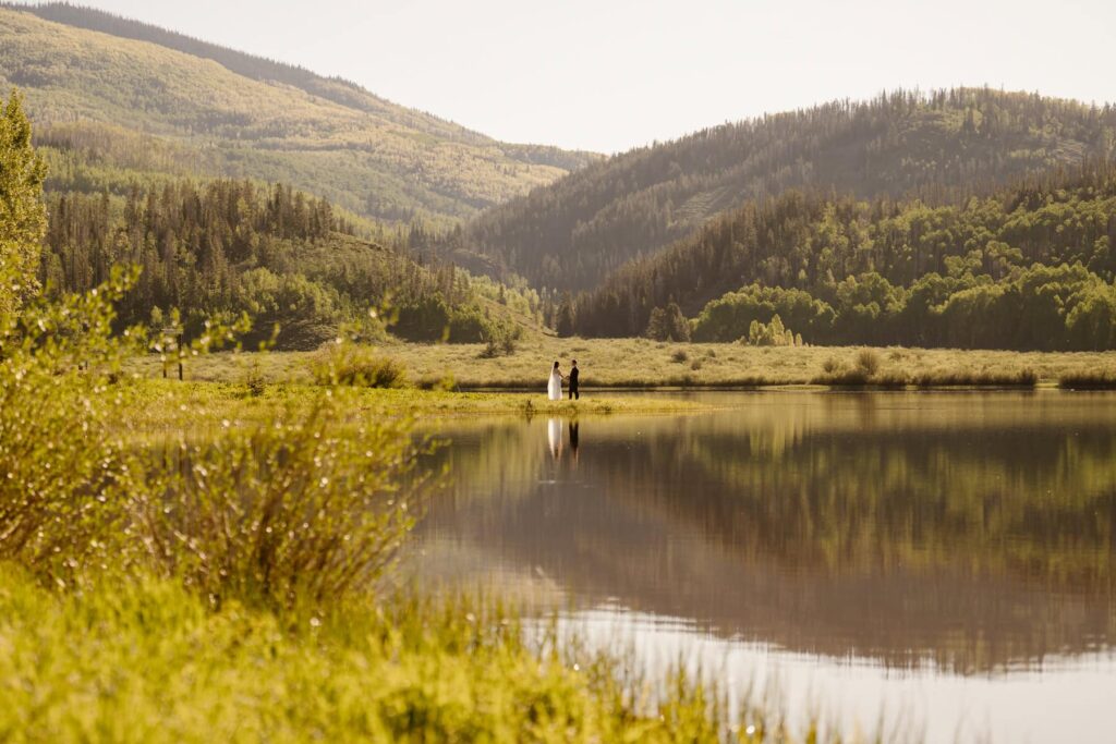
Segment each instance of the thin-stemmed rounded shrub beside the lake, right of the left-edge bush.
[{"label": "thin-stemmed rounded shrub beside the lake, right of the left-edge bush", "polygon": [[180,442],[136,504],[148,554],[214,603],[319,606],[369,589],[414,523],[406,422],[340,426],[344,390],[306,413]]}]

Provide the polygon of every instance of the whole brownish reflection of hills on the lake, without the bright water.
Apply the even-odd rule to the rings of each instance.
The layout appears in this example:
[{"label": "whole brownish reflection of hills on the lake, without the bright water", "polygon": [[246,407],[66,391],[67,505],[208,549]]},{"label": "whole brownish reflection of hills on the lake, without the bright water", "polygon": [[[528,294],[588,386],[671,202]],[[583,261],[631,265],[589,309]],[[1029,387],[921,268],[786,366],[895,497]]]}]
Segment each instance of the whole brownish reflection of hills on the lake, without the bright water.
[{"label": "whole brownish reflection of hills on the lake, without the bright water", "polygon": [[576,470],[540,423],[493,427],[424,531],[797,650],[974,670],[1116,637],[1116,398],[748,400],[583,422]]}]

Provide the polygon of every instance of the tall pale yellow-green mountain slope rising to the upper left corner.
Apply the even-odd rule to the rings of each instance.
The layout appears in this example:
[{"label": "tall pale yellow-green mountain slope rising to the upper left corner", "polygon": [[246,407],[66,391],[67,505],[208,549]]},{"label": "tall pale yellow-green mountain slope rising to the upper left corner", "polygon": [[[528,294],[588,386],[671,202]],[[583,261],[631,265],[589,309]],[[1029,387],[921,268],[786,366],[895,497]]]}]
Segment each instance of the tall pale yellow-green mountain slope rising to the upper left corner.
[{"label": "tall pale yellow-green mountain slope rising to the upper left corner", "polygon": [[123,193],[119,167],[250,177],[377,220],[449,224],[596,158],[497,142],[345,80],[62,3],[0,4],[0,86],[25,94],[48,158],[105,171],[73,183],[55,167],[56,190]]}]

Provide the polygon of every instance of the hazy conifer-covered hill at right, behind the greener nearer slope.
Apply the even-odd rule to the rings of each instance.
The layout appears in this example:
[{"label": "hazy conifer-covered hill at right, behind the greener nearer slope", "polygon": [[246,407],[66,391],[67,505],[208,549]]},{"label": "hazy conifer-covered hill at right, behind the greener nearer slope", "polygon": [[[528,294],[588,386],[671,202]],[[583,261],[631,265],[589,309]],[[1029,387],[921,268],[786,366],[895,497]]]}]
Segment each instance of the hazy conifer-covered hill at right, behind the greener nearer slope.
[{"label": "hazy conifer-covered hill at right, behind the greener nearer slope", "polygon": [[[450,247],[536,286],[589,289],[749,200],[790,189],[940,202],[1116,147],[1116,109],[1038,95],[896,91],[729,124],[595,163],[491,209]],[[706,278],[706,281],[709,278]],[[642,329],[641,329],[642,330]]]}]

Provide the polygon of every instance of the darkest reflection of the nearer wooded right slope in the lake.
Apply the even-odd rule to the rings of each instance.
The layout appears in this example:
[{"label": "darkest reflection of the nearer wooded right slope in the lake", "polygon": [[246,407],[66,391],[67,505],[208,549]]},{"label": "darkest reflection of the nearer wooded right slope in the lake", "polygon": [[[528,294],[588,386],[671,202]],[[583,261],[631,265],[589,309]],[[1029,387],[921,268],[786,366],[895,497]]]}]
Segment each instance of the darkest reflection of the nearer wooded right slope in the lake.
[{"label": "darkest reflection of the nearer wooded right slope in the lake", "polygon": [[1105,429],[817,433],[778,456],[740,456],[740,444],[693,439],[683,477],[712,487],[664,505],[790,564],[1112,584],[1116,438]]}]

